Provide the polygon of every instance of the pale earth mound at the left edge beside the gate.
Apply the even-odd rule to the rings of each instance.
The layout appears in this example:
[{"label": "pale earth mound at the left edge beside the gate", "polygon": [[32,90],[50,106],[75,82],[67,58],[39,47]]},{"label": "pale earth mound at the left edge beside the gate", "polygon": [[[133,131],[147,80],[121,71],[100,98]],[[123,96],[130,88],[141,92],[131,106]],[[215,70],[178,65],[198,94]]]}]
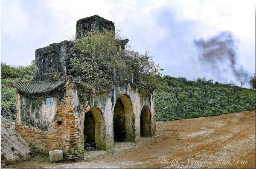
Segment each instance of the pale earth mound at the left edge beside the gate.
[{"label": "pale earth mound at the left edge beside the gate", "polygon": [[16,132],[15,123],[1,115],[1,167],[30,158],[29,145]]}]

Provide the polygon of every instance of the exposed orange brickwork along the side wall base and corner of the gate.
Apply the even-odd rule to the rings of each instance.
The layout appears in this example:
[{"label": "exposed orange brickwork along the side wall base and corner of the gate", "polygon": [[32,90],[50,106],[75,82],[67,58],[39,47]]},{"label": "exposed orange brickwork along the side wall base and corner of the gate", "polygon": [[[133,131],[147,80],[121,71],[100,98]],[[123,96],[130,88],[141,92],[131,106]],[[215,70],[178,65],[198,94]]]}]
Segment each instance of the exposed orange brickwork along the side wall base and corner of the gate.
[{"label": "exposed orange brickwork along the side wall base and corner of the gate", "polygon": [[84,119],[84,113],[81,117],[75,115],[72,104],[73,90],[73,84],[67,86],[63,99],[57,105],[58,119],[49,126],[48,131],[22,126],[16,121],[17,132],[28,144],[34,145],[40,152],[63,150],[63,156],[67,159],[84,157],[84,125],[79,122],[79,118]]}]

